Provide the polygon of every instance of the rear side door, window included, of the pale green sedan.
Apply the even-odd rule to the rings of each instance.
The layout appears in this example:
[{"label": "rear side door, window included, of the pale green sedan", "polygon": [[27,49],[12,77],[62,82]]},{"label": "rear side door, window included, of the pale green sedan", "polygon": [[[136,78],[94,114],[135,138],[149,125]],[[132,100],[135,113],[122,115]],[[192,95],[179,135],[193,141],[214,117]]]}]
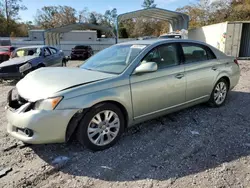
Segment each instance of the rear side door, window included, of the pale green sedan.
[{"label": "rear side door, window included, of the pale green sedan", "polygon": [[217,76],[217,59],[207,46],[181,43],[187,80],[186,101],[209,97]]}]

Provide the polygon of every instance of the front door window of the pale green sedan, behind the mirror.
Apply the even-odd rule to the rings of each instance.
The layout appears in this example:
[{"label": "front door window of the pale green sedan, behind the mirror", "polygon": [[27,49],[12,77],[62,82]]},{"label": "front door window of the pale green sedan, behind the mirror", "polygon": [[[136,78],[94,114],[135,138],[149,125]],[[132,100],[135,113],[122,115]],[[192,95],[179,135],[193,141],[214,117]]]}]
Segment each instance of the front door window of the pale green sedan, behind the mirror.
[{"label": "front door window of the pale green sedan, behind the mirror", "polygon": [[169,66],[178,65],[178,47],[176,44],[161,45],[149,52],[141,63],[155,62],[158,69],[164,69]]}]

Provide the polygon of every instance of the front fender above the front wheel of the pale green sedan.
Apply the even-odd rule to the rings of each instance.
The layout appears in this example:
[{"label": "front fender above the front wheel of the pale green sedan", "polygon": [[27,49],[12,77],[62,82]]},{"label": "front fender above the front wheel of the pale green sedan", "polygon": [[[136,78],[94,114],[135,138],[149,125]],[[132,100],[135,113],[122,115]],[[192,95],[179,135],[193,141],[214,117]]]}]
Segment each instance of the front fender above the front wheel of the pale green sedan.
[{"label": "front fender above the front wheel of the pale green sedan", "polygon": [[76,91],[66,92],[57,109],[87,109],[101,102],[117,102],[126,109],[128,125],[131,125],[133,109],[129,81],[125,79],[117,82],[92,84]]}]

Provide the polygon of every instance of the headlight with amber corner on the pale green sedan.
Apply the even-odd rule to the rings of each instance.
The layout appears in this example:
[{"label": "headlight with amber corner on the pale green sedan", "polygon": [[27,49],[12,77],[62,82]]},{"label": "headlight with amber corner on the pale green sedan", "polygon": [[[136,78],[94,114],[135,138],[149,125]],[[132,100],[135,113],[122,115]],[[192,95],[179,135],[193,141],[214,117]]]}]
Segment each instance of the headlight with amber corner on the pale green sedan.
[{"label": "headlight with amber corner on the pale green sedan", "polygon": [[61,102],[63,97],[54,97],[37,101],[35,103],[35,110],[54,110],[55,107]]}]

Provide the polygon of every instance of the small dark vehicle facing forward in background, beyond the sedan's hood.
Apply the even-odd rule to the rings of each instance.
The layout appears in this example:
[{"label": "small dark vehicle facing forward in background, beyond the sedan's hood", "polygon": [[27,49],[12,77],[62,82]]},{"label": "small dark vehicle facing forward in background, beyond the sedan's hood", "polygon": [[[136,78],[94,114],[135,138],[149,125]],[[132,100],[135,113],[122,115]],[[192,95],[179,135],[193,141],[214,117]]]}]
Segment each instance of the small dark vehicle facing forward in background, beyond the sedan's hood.
[{"label": "small dark vehicle facing forward in background, beyond the sedan's hood", "polygon": [[72,48],[71,59],[88,59],[93,54],[91,46],[77,45]]}]

